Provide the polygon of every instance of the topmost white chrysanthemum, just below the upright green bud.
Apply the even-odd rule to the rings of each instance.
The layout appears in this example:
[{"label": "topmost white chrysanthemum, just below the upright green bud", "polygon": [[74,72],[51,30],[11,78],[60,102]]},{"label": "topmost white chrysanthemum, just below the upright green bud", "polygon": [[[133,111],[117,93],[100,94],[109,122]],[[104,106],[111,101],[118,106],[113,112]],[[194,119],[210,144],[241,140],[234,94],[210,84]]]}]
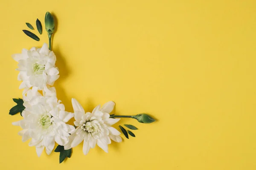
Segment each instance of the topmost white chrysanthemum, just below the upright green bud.
[{"label": "topmost white chrysanthemum, just below the upright green bud", "polygon": [[55,67],[56,56],[46,43],[42,48],[23,49],[21,54],[13,54],[12,57],[19,62],[16,70],[20,71],[18,80],[23,81],[20,89],[25,88],[26,91],[37,87],[46,91],[47,85],[53,85],[59,77],[58,68]]}]

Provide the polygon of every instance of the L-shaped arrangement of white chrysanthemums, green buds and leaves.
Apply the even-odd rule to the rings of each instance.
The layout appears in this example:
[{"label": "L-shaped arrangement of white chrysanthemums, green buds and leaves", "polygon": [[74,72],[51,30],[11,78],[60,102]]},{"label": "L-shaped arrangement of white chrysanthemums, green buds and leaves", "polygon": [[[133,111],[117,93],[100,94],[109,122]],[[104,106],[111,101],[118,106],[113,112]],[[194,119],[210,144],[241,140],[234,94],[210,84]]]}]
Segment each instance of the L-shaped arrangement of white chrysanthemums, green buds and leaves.
[{"label": "L-shaped arrangement of white chrysanthemums, green buds and leaves", "polygon": [[[35,30],[30,23],[28,28]],[[43,27],[40,20],[36,20],[36,28],[42,34]],[[60,152],[59,163],[67,157],[70,158],[72,148],[83,142],[83,153],[87,155],[90,148],[96,144],[105,152],[108,152],[108,144],[111,140],[122,142],[120,132],[112,127],[120,118],[133,118],[140,123],[152,123],[155,120],[148,114],[141,113],[134,116],[122,116],[111,114],[115,103],[110,101],[103,106],[96,106],[93,111],[86,112],[82,105],[72,99],[74,112],[65,111],[64,104],[56,97],[54,82],[59,78],[58,67],[55,66],[56,56],[52,51],[52,34],[55,30],[54,19],[49,12],[45,15],[45,29],[49,38],[49,46],[44,43],[41,48],[33,47],[30,50],[23,49],[21,54],[12,55],[18,62],[18,80],[21,81],[20,89],[23,90],[22,99],[13,99],[17,104],[10,109],[9,114],[20,113],[22,119],[13,122],[13,125],[20,126],[18,132],[22,136],[22,142],[29,139],[29,146],[35,146],[38,156],[43,150],[49,155],[58,144],[55,152]],[[28,30],[23,32],[30,38],[40,41],[40,38]],[[73,118],[74,125],[67,122]],[[133,125],[119,125],[121,132],[127,139],[135,137]]]}]

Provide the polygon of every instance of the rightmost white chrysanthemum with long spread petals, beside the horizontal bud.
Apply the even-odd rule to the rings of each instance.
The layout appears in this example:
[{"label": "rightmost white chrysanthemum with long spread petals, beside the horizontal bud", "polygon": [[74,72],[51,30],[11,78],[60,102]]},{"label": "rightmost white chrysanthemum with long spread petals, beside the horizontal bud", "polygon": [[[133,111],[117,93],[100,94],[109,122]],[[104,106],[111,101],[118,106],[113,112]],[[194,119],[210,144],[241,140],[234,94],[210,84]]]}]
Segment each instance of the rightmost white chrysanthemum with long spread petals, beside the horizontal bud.
[{"label": "rightmost white chrysanthemum with long spread petals, beside the horizontal bud", "polygon": [[119,121],[119,119],[109,118],[115,103],[107,102],[100,108],[98,105],[93,109],[93,112],[84,112],[84,109],[76,99],[72,99],[75,119],[74,122],[77,126],[74,133],[70,135],[68,144],[64,146],[65,150],[77,146],[84,140],[83,153],[86,155],[90,148],[95,147],[96,143],[105,152],[108,153],[108,144],[111,140],[115,142],[122,142],[119,136],[120,132],[111,125]]}]

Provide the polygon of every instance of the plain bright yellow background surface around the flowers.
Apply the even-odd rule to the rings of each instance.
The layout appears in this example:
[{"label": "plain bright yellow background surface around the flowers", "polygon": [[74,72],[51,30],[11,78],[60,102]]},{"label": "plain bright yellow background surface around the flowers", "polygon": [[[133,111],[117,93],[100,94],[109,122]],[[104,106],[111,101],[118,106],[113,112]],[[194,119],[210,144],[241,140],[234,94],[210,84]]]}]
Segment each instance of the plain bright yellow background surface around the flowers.
[{"label": "plain bright yellow background surface around the flowers", "polygon": [[[255,0],[1,0],[1,170],[255,170]],[[57,17],[52,49],[58,99],[92,111],[116,102],[114,113],[148,113],[158,121],[132,124],[136,138],[58,164],[21,142],[8,115],[22,97],[11,54],[47,42],[27,37],[46,11]],[[33,31],[38,35],[36,30]]]}]

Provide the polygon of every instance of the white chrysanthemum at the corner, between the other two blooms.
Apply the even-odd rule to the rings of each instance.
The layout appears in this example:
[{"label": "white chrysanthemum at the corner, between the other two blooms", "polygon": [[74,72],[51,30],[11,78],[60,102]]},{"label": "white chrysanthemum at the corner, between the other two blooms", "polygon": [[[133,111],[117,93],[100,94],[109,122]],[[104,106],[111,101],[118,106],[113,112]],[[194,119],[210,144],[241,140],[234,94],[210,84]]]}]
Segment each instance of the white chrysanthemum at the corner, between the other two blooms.
[{"label": "white chrysanthemum at the corner, between the other two blooms", "polygon": [[32,138],[29,146],[36,147],[38,156],[46,148],[49,155],[55,145],[55,142],[64,146],[68,143],[70,133],[75,131],[75,127],[67,125],[73,116],[73,113],[65,111],[63,104],[55,96],[41,96],[35,89],[29,89],[23,96],[26,107],[22,112],[23,119],[13,122],[13,125],[19,125],[23,128],[18,134],[22,136],[25,142]]}]

